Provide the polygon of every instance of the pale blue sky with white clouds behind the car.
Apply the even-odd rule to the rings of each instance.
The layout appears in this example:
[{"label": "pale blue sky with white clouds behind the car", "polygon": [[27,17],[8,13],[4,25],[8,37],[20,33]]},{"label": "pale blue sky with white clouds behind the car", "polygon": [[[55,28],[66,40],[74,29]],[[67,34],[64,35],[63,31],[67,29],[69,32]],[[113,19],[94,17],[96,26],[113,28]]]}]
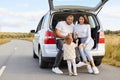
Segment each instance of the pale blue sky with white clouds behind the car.
[{"label": "pale blue sky with white clouds behind the car", "polygon": [[[104,30],[120,30],[119,3],[109,0],[98,14]],[[48,0],[0,0],[0,32],[30,32],[48,10]]]}]

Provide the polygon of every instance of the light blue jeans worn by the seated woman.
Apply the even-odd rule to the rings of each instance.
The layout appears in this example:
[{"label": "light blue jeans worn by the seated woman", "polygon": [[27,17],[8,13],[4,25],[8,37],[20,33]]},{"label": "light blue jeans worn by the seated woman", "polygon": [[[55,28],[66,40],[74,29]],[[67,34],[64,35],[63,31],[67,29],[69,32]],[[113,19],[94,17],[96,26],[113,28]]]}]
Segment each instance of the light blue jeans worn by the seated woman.
[{"label": "light blue jeans worn by the seated woman", "polygon": [[[87,38],[81,39],[80,45],[82,45],[86,41],[86,39]],[[90,54],[90,50],[93,48],[93,46],[94,46],[94,41],[91,38],[90,41],[88,42],[88,44],[86,45],[86,47],[80,49],[80,54],[82,56],[83,61],[87,61],[87,60],[92,61],[93,60],[93,57]]]}]

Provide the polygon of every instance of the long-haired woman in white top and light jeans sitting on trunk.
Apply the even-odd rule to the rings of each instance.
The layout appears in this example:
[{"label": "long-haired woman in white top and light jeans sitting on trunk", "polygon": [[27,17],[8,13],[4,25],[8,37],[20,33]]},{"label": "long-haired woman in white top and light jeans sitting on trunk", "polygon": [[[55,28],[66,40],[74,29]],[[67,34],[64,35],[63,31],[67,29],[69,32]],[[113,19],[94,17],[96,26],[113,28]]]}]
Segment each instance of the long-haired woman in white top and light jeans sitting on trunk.
[{"label": "long-haired woman in white top and light jeans sitting on trunk", "polygon": [[[77,35],[79,41],[81,41],[79,42],[79,50],[83,61],[87,64],[88,72],[98,74],[99,70],[95,66],[93,57],[90,54],[90,50],[94,46],[94,41],[91,38],[91,28],[84,16],[79,17],[78,24],[74,27],[74,32]],[[80,65],[78,63],[77,67],[79,66]]]}]

